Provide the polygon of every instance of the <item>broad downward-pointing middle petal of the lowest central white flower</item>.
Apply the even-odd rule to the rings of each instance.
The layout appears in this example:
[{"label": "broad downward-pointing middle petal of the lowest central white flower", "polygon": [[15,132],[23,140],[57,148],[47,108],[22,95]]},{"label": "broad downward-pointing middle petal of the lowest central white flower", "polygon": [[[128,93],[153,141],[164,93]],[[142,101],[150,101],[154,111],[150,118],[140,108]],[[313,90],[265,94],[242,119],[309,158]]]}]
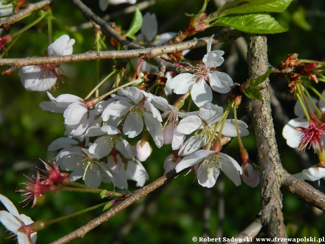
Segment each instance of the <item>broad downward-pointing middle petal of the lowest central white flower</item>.
[{"label": "broad downward-pointing middle petal of the lowest central white flower", "polygon": [[218,168],[210,168],[210,164],[201,164],[197,171],[198,182],[203,187],[211,188],[215,185],[219,174]]}]

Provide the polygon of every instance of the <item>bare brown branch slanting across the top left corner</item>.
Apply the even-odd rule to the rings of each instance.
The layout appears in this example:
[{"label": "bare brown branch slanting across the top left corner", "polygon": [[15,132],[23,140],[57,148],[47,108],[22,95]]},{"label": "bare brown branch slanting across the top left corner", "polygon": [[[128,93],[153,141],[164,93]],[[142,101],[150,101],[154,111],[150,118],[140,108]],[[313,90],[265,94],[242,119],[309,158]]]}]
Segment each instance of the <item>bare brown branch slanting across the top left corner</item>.
[{"label": "bare brown branch slanting across the top left corner", "polygon": [[28,4],[27,8],[19,11],[17,14],[14,14],[7,18],[4,21],[0,21],[0,27],[9,28],[9,25],[16,23],[20,18],[23,16],[32,13],[36,10],[44,8],[46,5],[53,4],[57,0],[43,0],[41,2],[35,3],[35,4]]}]

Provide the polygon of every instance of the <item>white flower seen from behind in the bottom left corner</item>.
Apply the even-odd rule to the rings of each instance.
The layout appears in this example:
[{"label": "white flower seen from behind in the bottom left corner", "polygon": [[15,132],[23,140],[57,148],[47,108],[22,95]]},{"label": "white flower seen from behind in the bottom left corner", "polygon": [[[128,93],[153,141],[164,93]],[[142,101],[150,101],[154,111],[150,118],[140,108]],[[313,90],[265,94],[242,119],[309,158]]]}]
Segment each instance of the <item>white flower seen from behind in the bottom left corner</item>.
[{"label": "white flower seen from behind in the bottom left corner", "polygon": [[31,230],[27,227],[27,225],[34,223],[34,221],[28,216],[19,215],[15,205],[4,195],[0,194],[0,201],[9,211],[0,211],[0,222],[7,230],[17,235],[19,244],[34,244],[37,239],[37,233],[30,233]]}]

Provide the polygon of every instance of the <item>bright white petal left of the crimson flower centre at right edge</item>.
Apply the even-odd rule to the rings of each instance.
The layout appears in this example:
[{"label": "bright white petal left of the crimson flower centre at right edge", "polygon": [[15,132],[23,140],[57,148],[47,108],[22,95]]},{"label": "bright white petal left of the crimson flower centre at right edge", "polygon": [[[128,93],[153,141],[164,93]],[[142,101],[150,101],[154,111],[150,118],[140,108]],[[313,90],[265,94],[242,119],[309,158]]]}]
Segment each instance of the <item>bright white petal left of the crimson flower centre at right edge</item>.
[{"label": "bright white petal left of the crimson flower centre at right edge", "polygon": [[301,132],[295,130],[296,127],[308,128],[309,123],[303,117],[298,117],[289,120],[283,127],[282,136],[286,139],[286,144],[292,148],[297,148],[300,143]]}]

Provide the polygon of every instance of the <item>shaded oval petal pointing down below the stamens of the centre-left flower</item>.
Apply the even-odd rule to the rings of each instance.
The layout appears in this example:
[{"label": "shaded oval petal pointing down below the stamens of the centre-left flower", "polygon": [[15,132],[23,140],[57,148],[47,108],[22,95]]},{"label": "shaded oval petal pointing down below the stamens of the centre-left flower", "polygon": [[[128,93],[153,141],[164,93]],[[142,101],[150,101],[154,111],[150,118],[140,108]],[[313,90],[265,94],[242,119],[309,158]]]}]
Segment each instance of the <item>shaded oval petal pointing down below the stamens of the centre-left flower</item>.
[{"label": "shaded oval petal pointing down below the stamens of the centre-left flower", "polygon": [[140,113],[137,111],[131,111],[127,114],[124,125],[123,132],[128,138],[134,138],[139,135],[143,130],[143,120]]}]

